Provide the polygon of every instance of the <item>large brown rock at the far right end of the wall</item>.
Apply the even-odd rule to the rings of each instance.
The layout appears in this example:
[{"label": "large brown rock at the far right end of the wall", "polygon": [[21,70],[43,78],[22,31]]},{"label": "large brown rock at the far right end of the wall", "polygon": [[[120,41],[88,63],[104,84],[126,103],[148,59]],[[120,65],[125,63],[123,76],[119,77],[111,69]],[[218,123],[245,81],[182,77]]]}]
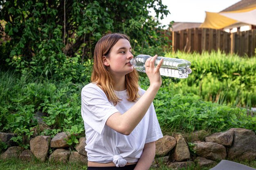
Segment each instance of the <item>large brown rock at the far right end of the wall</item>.
[{"label": "large brown rock at the far right end of the wall", "polygon": [[231,128],[234,132],[233,144],[227,148],[229,159],[254,160],[256,157],[256,135],[252,130]]}]

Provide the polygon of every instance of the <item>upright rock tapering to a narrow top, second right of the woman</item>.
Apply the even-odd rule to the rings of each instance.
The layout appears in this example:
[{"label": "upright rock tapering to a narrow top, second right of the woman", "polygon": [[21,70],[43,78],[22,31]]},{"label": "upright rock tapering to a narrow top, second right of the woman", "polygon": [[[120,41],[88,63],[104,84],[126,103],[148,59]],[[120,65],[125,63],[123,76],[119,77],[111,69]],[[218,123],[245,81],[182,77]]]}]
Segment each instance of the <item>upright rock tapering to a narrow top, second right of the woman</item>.
[{"label": "upright rock tapering to a narrow top, second right of the woman", "polygon": [[175,135],[176,146],[174,148],[174,153],[171,155],[170,160],[184,161],[190,159],[189,147],[182,135]]}]

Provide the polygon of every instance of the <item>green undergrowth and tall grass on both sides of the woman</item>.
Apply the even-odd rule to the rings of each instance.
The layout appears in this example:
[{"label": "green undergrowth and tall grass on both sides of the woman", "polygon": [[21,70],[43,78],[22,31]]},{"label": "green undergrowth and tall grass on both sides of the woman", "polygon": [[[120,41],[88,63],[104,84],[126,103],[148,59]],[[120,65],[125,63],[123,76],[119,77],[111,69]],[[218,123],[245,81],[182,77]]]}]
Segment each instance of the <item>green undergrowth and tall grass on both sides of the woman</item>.
[{"label": "green undergrowth and tall grass on both sides of the woman", "polygon": [[[248,99],[252,101],[252,105],[255,103],[252,98],[255,92],[255,84],[252,84],[255,75],[250,72],[255,67],[254,64],[250,64],[254,62],[253,58],[239,60],[239,63],[243,65],[244,72],[236,72],[236,70],[234,71],[236,67],[231,67],[229,72],[222,73],[214,68],[217,68],[216,65],[220,58],[222,58],[222,64],[218,66],[219,70],[225,69],[222,68],[222,65],[232,66],[227,62],[231,59],[225,55],[221,54],[219,57],[220,54],[212,53],[211,55],[214,57],[211,57],[208,54],[204,54],[206,56],[193,54],[193,57],[189,58],[187,54],[177,54],[180,58],[191,61],[193,72],[187,79],[162,77],[163,84],[155,97],[154,106],[164,134],[189,133],[194,130],[219,132],[235,127],[256,131],[256,119],[253,114],[251,115],[245,108],[229,106],[232,102],[239,104],[239,101],[243,101],[246,103],[249,101]],[[200,58],[203,62],[200,61]],[[209,64],[209,62],[213,64]],[[238,59],[234,57],[232,62],[233,65],[237,65]],[[88,67],[91,68],[91,62],[85,61],[85,63],[88,63]],[[242,67],[240,68],[242,69]],[[202,70],[205,70],[203,75],[200,72]],[[20,76],[11,71],[0,72],[0,131],[17,133],[13,140],[19,146],[28,147],[22,140],[31,135],[30,128],[38,124],[34,113],[42,111],[47,113],[44,121],[50,126],[50,129],[43,130],[40,135],[54,137],[59,132],[68,132],[70,138],[67,139],[67,143],[70,148],[73,148],[79,137],[84,135],[80,93],[83,86],[90,82],[91,70],[87,71],[88,75],[84,75],[83,83],[73,83],[72,78],[54,81],[53,79],[43,79],[40,76]],[[139,74],[141,88],[147,89],[150,83],[146,74]],[[232,77],[234,79],[231,79]],[[240,78],[238,79],[238,77]],[[244,93],[247,92],[245,94],[251,98],[245,98],[243,93],[240,93],[239,96],[241,100],[236,97],[232,98],[241,91],[240,82],[242,80]],[[225,83],[229,85],[229,88],[225,88],[223,85]],[[199,89],[201,89],[200,93]],[[216,103],[205,102],[205,100],[216,101],[217,96],[215,99],[207,99],[206,96],[213,97],[218,93],[221,95]]]}]

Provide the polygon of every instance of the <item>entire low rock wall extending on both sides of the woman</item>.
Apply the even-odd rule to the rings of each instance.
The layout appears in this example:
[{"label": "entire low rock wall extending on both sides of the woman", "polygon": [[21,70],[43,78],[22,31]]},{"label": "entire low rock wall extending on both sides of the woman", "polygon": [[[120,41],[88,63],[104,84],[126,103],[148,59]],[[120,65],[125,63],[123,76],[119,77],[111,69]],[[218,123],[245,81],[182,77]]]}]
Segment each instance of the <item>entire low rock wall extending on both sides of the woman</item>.
[{"label": "entire low rock wall extending on both sides of the woman", "polygon": [[[13,145],[10,141],[14,134],[0,132],[0,140]],[[66,144],[69,135],[66,132],[49,136],[36,136],[29,141],[30,150],[11,146],[0,155],[1,159],[17,157],[30,161],[33,158],[41,161],[80,162],[86,164],[85,137],[79,139],[75,151],[70,151]],[[189,145],[188,145],[189,141]],[[53,150],[49,154],[49,149]],[[222,159],[254,160],[256,158],[256,135],[252,130],[231,128],[226,132],[213,133],[200,130],[188,135],[173,134],[156,141],[156,157],[152,167],[159,163],[177,169],[194,165],[209,166]]]}]

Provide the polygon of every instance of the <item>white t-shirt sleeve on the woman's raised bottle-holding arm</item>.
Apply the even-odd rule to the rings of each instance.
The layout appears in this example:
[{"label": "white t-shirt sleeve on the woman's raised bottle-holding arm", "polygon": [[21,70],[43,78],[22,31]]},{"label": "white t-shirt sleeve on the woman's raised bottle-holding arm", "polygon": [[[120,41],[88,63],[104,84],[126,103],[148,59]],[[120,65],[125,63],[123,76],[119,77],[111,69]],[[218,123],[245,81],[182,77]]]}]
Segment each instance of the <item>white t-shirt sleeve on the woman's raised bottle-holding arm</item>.
[{"label": "white t-shirt sleeve on the woman's raised bottle-holding arm", "polygon": [[97,85],[89,84],[81,91],[81,115],[83,121],[102,135],[108,118],[118,112]]}]

